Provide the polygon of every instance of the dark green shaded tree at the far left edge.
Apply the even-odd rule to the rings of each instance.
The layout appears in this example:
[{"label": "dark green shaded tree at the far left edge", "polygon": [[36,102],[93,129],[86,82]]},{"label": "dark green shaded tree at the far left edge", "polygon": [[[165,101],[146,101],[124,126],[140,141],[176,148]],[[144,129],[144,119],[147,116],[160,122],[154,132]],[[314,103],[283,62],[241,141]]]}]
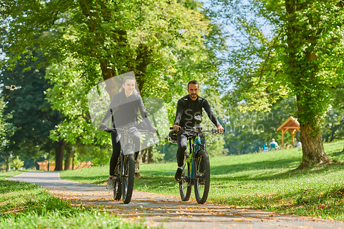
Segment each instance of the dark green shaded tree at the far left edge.
[{"label": "dark green shaded tree at the far left edge", "polygon": [[[1,91],[6,101],[4,114],[11,114],[8,122],[20,127],[9,140],[6,151],[14,155],[24,153],[36,156],[36,153],[50,152],[56,149],[56,142],[50,140],[50,130],[61,121],[58,111],[53,111],[43,91],[50,87],[45,80],[45,69],[36,69],[43,56],[33,52],[35,61],[28,59],[25,65],[15,65],[12,71],[3,67],[0,83],[3,85],[20,85],[23,88],[15,91]],[[25,57],[24,57],[25,58]],[[23,73],[23,69],[30,70]],[[39,151],[37,151],[39,147]],[[57,148],[58,149],[58,148]],[[58,163],[56,163],[58,164]]]}]

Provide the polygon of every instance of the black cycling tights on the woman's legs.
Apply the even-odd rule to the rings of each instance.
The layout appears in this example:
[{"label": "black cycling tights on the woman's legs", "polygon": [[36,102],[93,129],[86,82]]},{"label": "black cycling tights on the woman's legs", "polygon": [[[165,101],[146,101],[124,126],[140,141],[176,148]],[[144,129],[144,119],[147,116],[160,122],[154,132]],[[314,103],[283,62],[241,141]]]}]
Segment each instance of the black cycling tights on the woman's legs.
[{"label": "black cycling tights on the woman's legs", "polygon": [[[112,140],[112,155],[110,160],[110,175],[113,176],[115,173],[116,164],[118,161],[118,157],[120,156],[120,141],[116,142],[117,133],[111,133],[111,140]],[[134,135],[132,138],[133,144],[135,144],[135,160],[138,160],[138,153],[140,151],[140,137],[138,135]]]}]

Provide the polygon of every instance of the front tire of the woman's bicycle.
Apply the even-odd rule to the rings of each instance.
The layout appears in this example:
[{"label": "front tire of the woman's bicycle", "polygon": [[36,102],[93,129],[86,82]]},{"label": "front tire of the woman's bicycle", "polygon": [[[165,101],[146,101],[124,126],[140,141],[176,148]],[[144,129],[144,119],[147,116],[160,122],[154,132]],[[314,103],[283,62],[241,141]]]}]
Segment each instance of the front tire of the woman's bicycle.
[{"label": "front tire of the woman's bicycle", "polygon": [[125,173],[122,177],[122,201],[129,204],[133,195],[133,182],[135,179],[135,159],[133,150],[130,150],[124,160]]}]

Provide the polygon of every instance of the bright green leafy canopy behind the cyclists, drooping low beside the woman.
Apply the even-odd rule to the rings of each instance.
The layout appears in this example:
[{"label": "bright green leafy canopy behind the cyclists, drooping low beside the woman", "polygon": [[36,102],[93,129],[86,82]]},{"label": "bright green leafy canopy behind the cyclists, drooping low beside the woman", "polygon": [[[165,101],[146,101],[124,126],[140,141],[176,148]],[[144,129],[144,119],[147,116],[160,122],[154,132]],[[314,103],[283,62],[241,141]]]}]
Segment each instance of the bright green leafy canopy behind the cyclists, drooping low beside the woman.
[{"label": "bright green leafy canopy behind the cyclists, drooping low beside the woman", "polygon": [[[47,96],[65,115],[52,139],[105,144],[108,136],[92,127],[85,103],[87,91],[100,80],[135,72],[141,95],[164,98],[170,117],[189,80],[216,89],[221,63],[216,52],[224,49],[224,39],[201,5],[192,0],[0,1],[0,46],[7,53],[2,63],[9,70],[23,64],[23,72],[49,66]],[[37,50],[45,58],[26,65],[36,61]]]}]

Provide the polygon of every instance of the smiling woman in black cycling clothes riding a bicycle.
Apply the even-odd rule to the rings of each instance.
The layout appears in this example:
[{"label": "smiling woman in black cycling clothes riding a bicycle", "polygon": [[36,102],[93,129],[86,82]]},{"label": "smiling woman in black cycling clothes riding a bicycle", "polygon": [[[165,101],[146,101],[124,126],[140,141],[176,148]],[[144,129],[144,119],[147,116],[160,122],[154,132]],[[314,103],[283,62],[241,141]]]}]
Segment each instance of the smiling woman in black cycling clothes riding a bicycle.
[{"label": "smiling woman in black cycling clothes riding a bicycle", "polygon": [[[155,128],[147,116],[147,111],[144,108],[142,98],[137,94],[135,85],[135,78],[131,76],[127,76],[125,78],[120,92],[115,94],[114,98],[111,100],[107,114],[105,115],[102,124],[100,124],[100,129],[105,130],[107,128],[106,123],[111,117],[111,112],[113,112],[114,127],[126,127],[132,131],[133,129],[136,129],[136,120],[138,117],[138,110],[140,109],[141,116],[149,127],[150,133],[155,133]],[[111,140],[112,155],[110,160],[109,179],[107,179],[107,189],[114,190],[114,173],[121,151],[120,133],[111,132]],[[134,132],[132,140],[133,144],[135,144],[135,173],[140,173],[138,170],[138,153],[140,151],[139,133]]]}]

